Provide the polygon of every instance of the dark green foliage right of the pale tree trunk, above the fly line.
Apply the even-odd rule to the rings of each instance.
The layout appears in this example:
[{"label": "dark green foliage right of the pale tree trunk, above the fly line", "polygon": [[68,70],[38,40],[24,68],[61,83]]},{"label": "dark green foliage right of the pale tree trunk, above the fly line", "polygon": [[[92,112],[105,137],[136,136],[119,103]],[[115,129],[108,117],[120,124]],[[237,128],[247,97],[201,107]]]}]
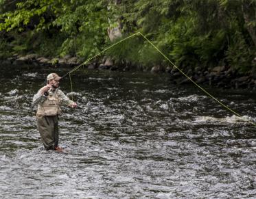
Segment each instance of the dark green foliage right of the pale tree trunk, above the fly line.
[{"label": "dark green foliage right of the pale tree trunk, above the fly line", "polygon": [[[143,31],[179,66],[226,64],[242,72],[250,69],[256,31],[248,27],[252,29],[256,22],[255,1],[140,0],[132,1],[131,7],[127,4],[121,5],[124,27]],[[241,37],[235,36],[237,31]],[[238,44],[240,48],[235,47]],[[239,55],[244,58],[236,58]]]}]

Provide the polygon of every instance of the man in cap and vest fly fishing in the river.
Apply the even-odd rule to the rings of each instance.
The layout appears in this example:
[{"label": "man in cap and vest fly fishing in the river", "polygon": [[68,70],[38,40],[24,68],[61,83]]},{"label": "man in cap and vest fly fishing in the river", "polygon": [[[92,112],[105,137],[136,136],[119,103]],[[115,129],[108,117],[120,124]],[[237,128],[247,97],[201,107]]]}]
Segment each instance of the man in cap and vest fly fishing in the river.
[{"label": "man in cap and vest fly fishing in the river", "polygon": [[33,104],[38,105],[36,120],[46,150],[62,151],[58,146],[58,116],[62,114],[60,104],[77,107],[76,103],[58,89],[60,79],[56,73],[49,74],[47,85],[40,88],[33,98]]}]

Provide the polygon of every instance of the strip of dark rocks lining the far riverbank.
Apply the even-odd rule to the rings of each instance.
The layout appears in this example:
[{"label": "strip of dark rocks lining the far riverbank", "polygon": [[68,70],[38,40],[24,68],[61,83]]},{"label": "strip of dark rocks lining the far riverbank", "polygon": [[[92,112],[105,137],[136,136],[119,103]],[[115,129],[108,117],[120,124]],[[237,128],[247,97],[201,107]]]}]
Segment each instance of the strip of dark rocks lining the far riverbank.
[{"label": "strip of dark rocks lining the far riverbank", "polygon": [[[81,64],[83,61],[78,59],[78,57],[71,57],[69,55],[62,57],[62,58],[46,58],[41,57],[36,54],[30,55],[14,55],[9,57],[8,59],[1,60],[1,65],[8,66],[22,66],[22,65],[32,65],[32,66],[50,66],[50,67],[75,67]],[[104,58],[99,62],[87,64],[84,66],[89,69],[99,69],[99,70],[130,70],[131,68],[134,69],[135,67],[131,67],[128,64],[125,66],[117,66],[113,64],[113,61],[108,58]],[[167,66],[154,66],[152,68],[139,68],[137,70],[143,71],[151,71],[151,72],[167,72],[170,74],[170,81],[174,84],[187,84],[191,83],[187,77],[185,77],[181,72],[178,71],[175,67]],[[236,70],[232,68],[228,68],[226,66],[216,66],[214,68],[199,68],[196,67],[193,70],[183,70],[183,72],[191,78],[193,81],[200,85],[209,85],[218,88],[233,88],[233,89],[249,89],[249,90],[256,90],[256,74],[255,72],[250,72],[246,75],[241,75]]]}]

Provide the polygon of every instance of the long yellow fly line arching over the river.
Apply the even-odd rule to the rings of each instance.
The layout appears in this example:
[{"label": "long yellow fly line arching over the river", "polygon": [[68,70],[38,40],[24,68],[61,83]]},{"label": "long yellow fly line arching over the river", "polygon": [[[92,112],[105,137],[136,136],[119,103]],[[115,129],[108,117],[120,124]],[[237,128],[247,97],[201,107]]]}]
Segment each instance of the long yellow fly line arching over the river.
[{"label": "long yellow fly line arching over the river", "polygon": [[120,44],[121,42],[124,42],[125,40],[128,40],[129,38],[132,38],[134,36],[142,36],[143,39],[145,39],[149,44],[152,45],[152,47],[154,47],[154,49],[156,49],[156,51],[158,51],[161,55],[163,55],[163,57],[165,57],[165,59],[172,64],[172,66],[174,66],[175,68],[178,69],[178,71],[181,72],[181,74],[183,74],[185,77],[187,77],[187,79],[189,79],[189,81],[191,81],[192,83],[194,83],[194,85],[196,85],[200,90],[202,90],[203,92],[205,92],[205,94],[207,94],[208,96],[210,96],[211,98],[213,98],[213,100],[215,100],[216,102],[218,102],[220,105],[222,105],[222,107],[228,109],[229,111],[231,111],[233,114],[235,114],[235,116],[240,117],[242,120],[244,120],[245,122],[250,122],[251,124],[253,124],[254,126],[256,126],[255,122],[251,121],[251,120],[246,120],[245,118],[243,118],[240,114],[237,114],[236,111],[234,111],[233,109],[227,107],[226,105],[224,105],[222,102],[220,102],[216,97],[212,96],[211,94],[209,94],[209,92],[207,92],[207,90],[205,90],[204,88],[202,88],[200,85],[198,85],[195,81],[193,81],[190,77],[188,77],[180,68],[178,68],[178,66],[176,66],[162,51],[160,51],[152,42],[150,42],[150,40],[148,40],[148,38],[146,38],[146,36],[144,36],[143,34],[141,34],[141,32],[137,32],[136,34],[132,34],[131,36],[128,36],[122,40],[119,40],[118,42],[116,42],[115,44],[112,44],[110,47],[107,47],[106,49],[104,49],[103,51],[101,51],[100,53],[97,53],[97,55],[87,59],[86,61],[82,62],[82,64],[76,66],[75,68],[73,68],[72,70],[70,70],[69,72],[67,72],[65,75],[62,76],[65,77],[67,75],[69,75],[69,79],[70,79],[70,83],[71,83],[71,92],[73,92],[73,86],[72,86],[72,81],[71,81],[71,73],[74,72],[75,70],[78,70],[78,68],[80,68],[81,66],[87,64],[88,62],[90,62],[92,59],[94,59],[95,57],[98,57],[99,55],[102,55],[102,53],[108,51],[108,49],[111,49],[115,46],[117,46],[118,44]]}]

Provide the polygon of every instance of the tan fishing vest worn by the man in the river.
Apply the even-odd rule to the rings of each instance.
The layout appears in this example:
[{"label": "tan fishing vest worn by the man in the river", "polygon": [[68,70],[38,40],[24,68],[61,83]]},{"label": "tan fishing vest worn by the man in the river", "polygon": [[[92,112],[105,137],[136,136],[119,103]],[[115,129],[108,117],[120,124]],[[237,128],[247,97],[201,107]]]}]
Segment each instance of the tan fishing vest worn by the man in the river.
[{"label": "tan fishing vest worn by the man in the river", "polygon": [[57,96],[57,91],[49,92],[46,100],[42,104],[38,104],[36,116],[57,116],[61,115],[60,100]]}]

